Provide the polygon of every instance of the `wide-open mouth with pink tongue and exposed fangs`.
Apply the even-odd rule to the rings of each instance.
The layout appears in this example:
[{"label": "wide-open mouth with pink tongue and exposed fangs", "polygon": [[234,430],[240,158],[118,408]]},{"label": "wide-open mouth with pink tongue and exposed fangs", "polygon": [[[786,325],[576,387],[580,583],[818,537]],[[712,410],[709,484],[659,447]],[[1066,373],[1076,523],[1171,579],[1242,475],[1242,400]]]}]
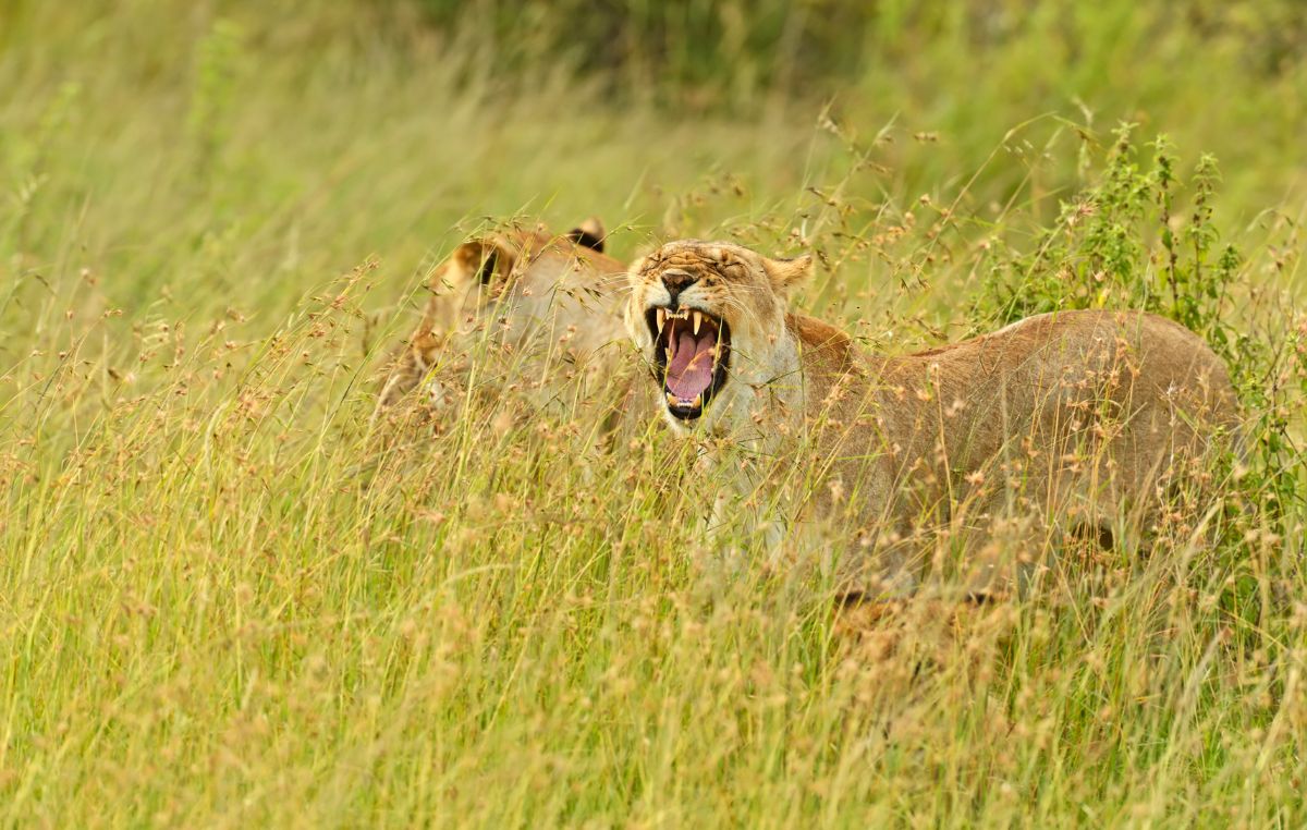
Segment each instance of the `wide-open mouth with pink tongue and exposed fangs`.
[{"label": "wide-open mouth with pink tongue and exposed fangs", "polygon": [[693,308],[654,307],[644,312],[644,319],[654,339],[654,361],[668,412],[682,421],[698,418],[725,386],[731,327]]}]

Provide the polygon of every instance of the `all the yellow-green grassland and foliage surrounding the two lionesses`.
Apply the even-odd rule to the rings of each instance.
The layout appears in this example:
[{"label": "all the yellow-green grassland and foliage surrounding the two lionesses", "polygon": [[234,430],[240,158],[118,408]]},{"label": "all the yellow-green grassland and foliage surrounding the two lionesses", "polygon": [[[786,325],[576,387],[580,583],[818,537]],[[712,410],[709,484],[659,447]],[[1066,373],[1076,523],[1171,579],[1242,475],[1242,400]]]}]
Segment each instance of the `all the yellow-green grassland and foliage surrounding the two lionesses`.
[{"label": "all the yellow-green grassland and foliage surrounding the two lionesses", "polygon": [[[1307,825],[1304,55],[1293,0],[0,0],[0,820]],[[890,352],[1166,314],[1246,452],[851,634],[652,412],[370,426],[433,265],[588,214],[812,251]]]}]

